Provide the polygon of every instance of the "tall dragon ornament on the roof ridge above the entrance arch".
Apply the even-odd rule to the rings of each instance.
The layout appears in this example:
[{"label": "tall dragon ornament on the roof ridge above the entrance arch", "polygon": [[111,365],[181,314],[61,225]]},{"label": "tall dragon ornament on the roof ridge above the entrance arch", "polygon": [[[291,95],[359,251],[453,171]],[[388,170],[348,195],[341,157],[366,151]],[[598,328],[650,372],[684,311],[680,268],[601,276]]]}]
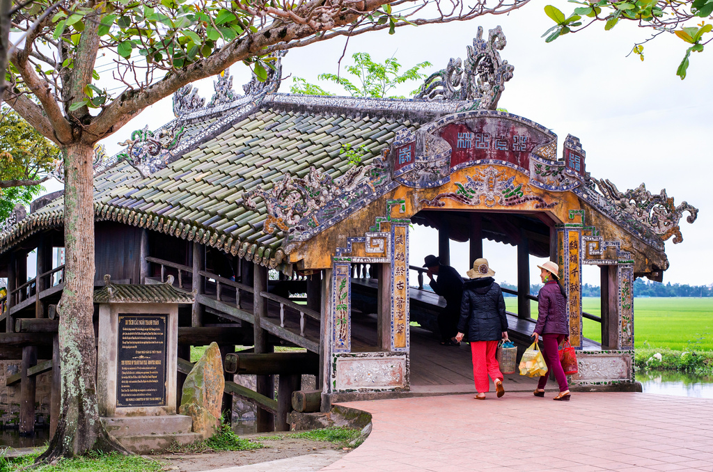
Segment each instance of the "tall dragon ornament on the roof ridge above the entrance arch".
[{"label": "tall dragon ornament on the roof ridge above the entrance arch", "polygon": [[478,101],[478,109],[495,110],[505,83],[513,78],[515,70],[498,53],[506,44],[500,26],[490,30],[487,41],[483,40],[483,27],[478,26],[478,36],[473,39],[473,46],[468,46],[466,60],[451,58],[445,69],[426,79],[415,98]]}]

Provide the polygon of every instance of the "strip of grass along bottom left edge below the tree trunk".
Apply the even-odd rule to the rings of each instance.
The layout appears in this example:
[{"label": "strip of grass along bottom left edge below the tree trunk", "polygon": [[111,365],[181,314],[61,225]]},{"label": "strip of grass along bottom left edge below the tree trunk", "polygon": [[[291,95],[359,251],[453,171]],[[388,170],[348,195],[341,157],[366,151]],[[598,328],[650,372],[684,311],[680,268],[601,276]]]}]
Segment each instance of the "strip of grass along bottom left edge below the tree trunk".
[{"label": "strip of grass along bottom left edge below the tree trunk", "polygon": [[[0,472],[19,472],[31,466],[39,453],[17,459],[0,458]],[[27,470],[37,472],[158,472],[162,463],[141,456],[123,456],[119,453],[91,453],[85,457],[61,459],[54,466],[39,466]]]}]

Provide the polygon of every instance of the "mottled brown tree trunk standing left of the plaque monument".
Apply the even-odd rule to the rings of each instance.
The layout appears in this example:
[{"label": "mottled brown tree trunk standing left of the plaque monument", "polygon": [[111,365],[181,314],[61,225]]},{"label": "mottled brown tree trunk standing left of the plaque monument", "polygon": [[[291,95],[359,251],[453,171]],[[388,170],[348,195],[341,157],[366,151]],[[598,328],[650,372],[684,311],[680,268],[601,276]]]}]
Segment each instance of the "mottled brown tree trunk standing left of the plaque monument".
[{"label": "mottled brown tree trunk standing left of the plaque monument", "polygon": [[94,312],[93,148],[73,143],[63,149],[65,169],[65,286],[58,304],[61,365],[60,416],[56,432],[38,461],[88,451],[123,451],[99,420],[96,399]]}]

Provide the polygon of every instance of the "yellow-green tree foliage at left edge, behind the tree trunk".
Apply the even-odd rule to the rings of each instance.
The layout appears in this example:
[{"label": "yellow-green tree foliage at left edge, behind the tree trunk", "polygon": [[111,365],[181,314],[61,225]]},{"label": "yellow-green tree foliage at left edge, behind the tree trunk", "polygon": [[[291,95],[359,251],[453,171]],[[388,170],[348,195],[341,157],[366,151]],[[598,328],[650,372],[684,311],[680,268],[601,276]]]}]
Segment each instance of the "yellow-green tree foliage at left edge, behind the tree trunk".
[{"label": "yellow-green tree foliage at left edge, behind the tree trunk", "polygon": [[[39,180],[60,158],[59,149],[14,111],[0,114],[0,180]],[[41,185],[0,188],[0,221],[15,205],[29,203]]]}]

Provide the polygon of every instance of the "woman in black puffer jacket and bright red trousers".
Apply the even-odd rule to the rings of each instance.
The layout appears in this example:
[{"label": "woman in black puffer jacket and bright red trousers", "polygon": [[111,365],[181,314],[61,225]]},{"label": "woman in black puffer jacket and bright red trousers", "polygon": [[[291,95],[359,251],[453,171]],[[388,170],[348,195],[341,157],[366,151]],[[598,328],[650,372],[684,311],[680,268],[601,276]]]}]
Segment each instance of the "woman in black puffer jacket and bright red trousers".
[{"label": "woman in black puffer jacket and bright red trousers", "polygon": [[503,291],[493,279],[495,271],[488,267],[486,259],[476,259],[473,269],[468,270],[467,274],[471,280],[463,284],[461,318],[458,320],[456,339],[460,342],[468,330],[468,342],[471,343],[473,354],[473,380],[478,391],[475,398],[486,399],[486,391],[490,390],[488,374],[500,398],[505,394],[505,389],[496,351],[498,342],[508,339]]}]

